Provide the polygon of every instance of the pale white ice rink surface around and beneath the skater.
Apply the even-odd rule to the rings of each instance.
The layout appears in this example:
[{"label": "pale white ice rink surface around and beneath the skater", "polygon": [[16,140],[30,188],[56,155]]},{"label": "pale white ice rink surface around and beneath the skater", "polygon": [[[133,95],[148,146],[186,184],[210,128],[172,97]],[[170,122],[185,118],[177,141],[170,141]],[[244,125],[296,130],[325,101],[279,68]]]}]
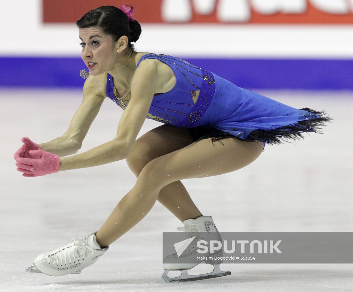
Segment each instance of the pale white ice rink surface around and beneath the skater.
[{"label": "pale white ice rink surface around and beneath the skater", "polygon": [[[220,231],[353,231],[353,93],[253,91],[296,108],[325,109],[334,120],[324,134],[267,145],[244,169],[182,180],[198,208]],[[1,292],[353,291],[352,264],[222,264],[232,275],[164,283],[162,231],[182,224],[159,202],[81,274],[25,273],[37,255],[98,230],[136,182],[125,160],[35,178],[16,170],[21,138],[40,144],[61,136],[81,101],[78,90],[0,92]],[[112,140],[121,115],[107,98],[78,153]],[[138,137],[160,125],[146,119]]]}]

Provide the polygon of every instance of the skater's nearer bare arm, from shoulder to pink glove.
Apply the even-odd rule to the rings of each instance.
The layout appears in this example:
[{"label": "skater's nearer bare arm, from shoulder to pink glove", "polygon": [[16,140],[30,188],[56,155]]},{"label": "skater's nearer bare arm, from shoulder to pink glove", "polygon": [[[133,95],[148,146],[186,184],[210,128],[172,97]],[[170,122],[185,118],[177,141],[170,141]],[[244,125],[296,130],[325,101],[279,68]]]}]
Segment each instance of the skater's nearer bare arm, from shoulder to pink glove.
[{"label": "skater's nearer bare arm, from shoulder to pink glove", "polygon": [[78,169],[122,160],[127,157],[146,119],[156,92],[157,68],[152,62],[141,63],[131,83],[131,99],[121,116],[116,137],[89,151],[60,158],[60,169]]}]

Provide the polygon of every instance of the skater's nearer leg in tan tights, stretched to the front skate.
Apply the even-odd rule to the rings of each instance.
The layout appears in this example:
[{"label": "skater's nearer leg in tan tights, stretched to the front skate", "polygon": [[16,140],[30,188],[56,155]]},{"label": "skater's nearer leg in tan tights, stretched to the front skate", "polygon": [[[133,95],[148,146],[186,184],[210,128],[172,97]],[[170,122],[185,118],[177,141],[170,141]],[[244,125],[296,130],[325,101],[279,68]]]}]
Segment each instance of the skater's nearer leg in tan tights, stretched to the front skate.
[{"label": "skater's nearer leg in tan tights, stretched to the front skate", "polygon": [[108,246],[136,225],[153,207],[165,186],[184,178],[216,176],[238,170],[254,161],[263,149],[262,142],[234,138],[222,142],[224,145],[213,145],[209,139],[194,142],[146,164],[134,187],[98,230],[98,244]]}]

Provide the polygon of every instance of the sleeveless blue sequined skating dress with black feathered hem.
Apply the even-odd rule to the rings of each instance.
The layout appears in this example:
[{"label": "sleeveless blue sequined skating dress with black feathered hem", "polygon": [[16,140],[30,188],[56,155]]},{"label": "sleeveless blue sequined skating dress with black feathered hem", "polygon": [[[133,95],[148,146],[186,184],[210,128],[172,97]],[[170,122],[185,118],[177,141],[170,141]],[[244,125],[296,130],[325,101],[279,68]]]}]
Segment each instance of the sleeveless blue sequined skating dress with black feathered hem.
[{"label": "sleeveless blue sequined skating dress with black feathered hem", "polygon": [[[244,141],[280,144],[319,132],[330,122],[325,112],[297,109],[238,87],[216,74],[169,55],[147,53],[137,63],[158,59],[174,72],[176,84],[167,93],[155,94],[146,118],[190,131],[193,141],[234,137]],[[113,77],[107,75],[107,96],[122,109],[130,95],[116,97]]]}]

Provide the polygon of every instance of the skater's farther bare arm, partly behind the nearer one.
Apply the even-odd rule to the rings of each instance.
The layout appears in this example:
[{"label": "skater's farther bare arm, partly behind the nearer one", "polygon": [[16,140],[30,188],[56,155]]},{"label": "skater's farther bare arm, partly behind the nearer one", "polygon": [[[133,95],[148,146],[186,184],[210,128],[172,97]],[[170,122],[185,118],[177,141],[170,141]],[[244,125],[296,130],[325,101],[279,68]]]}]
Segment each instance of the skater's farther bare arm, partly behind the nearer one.
[{"label": "skater's farther bare arm, partly behind the nearer one", "polygon": [[[104,77],[104,76],[103,76]],[[47,143],[39,144],[44,151],[63,157],[76,153],[82,146],[93,120],[97,116],[104,100],[102,80],[90,76],[83,87],[83,101],[74,114],[66,133]]]}]

